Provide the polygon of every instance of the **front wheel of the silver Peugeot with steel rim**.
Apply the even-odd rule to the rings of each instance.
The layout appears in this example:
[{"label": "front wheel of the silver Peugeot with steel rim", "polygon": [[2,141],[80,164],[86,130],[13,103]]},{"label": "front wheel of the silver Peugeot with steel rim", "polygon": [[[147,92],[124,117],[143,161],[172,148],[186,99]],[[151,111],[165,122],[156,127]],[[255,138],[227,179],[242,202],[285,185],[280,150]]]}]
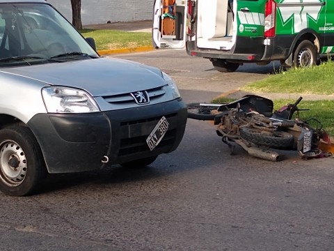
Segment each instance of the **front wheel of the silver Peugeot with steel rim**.
[{"label": "front wheel of the silver Peugeot with steel rim", "polygon": [[10,126],[0,130],[0,190],[6,195],[34,192],[47,170],[40,146],[29,128]]}]

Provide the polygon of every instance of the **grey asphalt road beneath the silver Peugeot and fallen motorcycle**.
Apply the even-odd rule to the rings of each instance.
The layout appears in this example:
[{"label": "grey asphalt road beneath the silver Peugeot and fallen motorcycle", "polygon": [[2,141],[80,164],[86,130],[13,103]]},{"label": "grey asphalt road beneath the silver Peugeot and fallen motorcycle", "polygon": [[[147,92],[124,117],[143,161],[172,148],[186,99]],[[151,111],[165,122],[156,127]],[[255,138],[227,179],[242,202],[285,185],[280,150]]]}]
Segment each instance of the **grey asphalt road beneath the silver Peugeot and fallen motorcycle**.
[{"label": "grey asphalt road beneath the silver Peugeot and fallen motorcycle", "polygon": [[[221,74],[182,53],[116,56],[170,73],[186,102],[209,101],[274,67]],[[230,155],[212,124],[189,120],[179,149],[146,169],[55,175],[39,195],[0,194],[0,248],[333,250],[333,159],[282,153],[282,162],[238,147]]]}]

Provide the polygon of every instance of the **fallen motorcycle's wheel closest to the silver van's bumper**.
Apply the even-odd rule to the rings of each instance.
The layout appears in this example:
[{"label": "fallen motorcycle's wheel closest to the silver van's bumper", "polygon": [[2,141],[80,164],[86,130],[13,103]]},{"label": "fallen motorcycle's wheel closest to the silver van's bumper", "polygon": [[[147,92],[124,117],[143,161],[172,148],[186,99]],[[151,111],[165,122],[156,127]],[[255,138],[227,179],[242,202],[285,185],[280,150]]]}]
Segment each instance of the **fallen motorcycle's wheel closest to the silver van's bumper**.
[{"label": "fallen motorcycle's wheel closest to the silver van's bumper", "polygon": [[190,103],[187,104],[188,118],[198,119],[202,121],[214,121],[214,117],[222,114],[218,112],[218,107],[216,105],[210,104],[200,104],[200,103]]}]

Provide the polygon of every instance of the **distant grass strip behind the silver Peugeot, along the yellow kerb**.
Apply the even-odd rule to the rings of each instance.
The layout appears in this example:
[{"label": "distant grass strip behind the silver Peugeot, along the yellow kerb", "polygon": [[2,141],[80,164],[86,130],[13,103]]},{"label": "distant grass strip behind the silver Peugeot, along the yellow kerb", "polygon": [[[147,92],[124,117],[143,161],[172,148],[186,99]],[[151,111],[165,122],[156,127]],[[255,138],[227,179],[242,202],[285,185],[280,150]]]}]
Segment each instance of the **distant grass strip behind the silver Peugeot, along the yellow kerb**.
[{"label": "distant grass strip behind the silver Peugeot, along the yellow kerb", "polygon": [[151,33],[127,32],[116,30],[92,30],[80,31],[85,38],[94,38],[97,50],[114,50],[122,48],[134,48],[152,46]]}]

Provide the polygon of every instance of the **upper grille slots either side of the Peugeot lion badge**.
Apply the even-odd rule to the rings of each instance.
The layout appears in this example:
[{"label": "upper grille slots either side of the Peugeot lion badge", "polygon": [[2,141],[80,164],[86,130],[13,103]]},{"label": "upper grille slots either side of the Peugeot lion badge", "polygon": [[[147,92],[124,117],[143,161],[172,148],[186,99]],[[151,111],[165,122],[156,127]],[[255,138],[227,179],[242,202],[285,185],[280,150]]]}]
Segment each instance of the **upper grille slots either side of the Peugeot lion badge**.
[{"label": "upper grille slots either side of the Peugeot lion badge", "polygon": [[[164,86],[157,87],[154,89],[149,89],[149,90],[141,90],[141,91],[147,91],[148,96],[151,101],[153,101],[156,98],[159,98],[161,96],[164,96],[166,91],[164,90]],[[109,104],[126,104],[126,103],[135,103],[134,98],[132,98],[130,93],[124,93],[124,94],[119,94],[119,95],[113,95],[113,96],[104,96],[103,97],[106,102],[109,102]]]}]

